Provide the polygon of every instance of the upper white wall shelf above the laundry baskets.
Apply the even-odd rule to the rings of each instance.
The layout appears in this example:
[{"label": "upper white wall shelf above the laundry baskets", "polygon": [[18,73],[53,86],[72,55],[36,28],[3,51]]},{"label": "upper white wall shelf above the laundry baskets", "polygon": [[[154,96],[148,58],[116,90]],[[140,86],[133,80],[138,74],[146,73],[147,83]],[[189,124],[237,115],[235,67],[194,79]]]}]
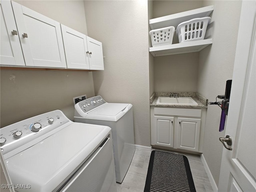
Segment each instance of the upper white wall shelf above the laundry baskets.
[{"label": "upper white wall shelf above the laundry baskets", "polygon": [[202,8],[189,10],[185,12],[180,12],[172,15],[158,17],[158,18],[150,19],[149,25],[152,30],[164,28],[168,26],[174,26],[176,29],[178,24],[184,21],[188,21],[194,18],[208,17],[213,10],[214,10],[214,6],[211,5],[211,6],[202,7]]}]

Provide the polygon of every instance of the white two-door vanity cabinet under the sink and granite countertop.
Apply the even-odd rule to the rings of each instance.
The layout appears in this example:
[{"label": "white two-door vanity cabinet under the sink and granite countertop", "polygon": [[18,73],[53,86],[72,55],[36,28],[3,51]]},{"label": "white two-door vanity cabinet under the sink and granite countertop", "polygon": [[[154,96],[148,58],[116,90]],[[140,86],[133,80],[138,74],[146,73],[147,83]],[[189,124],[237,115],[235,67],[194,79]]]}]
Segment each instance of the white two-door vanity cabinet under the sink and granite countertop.
[{"label": "white two-door vanity cabinet under the sink and granite countertop", "polygon": [[206,109],[150,107],[151,145],[202,152]]}]

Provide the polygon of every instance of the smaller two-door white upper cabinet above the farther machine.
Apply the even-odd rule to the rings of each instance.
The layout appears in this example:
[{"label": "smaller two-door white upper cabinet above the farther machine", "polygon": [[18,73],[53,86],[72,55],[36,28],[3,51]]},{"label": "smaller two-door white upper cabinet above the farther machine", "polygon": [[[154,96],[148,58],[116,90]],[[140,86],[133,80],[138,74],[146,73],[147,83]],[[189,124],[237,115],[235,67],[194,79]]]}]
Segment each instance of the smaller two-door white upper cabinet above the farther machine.
[{"label": "smaller two-door white upper cabinet above the farther machine", "polygon": [[102,43],[61,24],[67,67],[104,70]]}]

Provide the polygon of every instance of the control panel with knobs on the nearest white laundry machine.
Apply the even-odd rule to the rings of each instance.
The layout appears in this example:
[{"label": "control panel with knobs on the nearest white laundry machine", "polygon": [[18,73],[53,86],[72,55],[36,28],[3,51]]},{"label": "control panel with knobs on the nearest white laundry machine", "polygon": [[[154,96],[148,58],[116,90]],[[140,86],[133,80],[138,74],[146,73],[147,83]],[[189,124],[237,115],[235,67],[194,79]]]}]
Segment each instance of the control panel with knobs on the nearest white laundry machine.
[{"label": "control panel with knobs on the nearest white laundry machine", "polygon": [[60,111],[41,114],[0,130],[0,148],[3,154],[34,140],[70,120]]}]

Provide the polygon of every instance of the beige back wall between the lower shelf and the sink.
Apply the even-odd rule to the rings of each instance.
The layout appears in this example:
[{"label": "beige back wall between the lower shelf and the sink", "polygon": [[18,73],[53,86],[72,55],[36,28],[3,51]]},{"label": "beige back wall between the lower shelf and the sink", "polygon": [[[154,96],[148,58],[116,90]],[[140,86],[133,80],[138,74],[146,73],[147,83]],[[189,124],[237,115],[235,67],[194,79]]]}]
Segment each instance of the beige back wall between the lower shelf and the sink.
[{"label": "beige back wall between the lower shelf and the sink", "polygon": [[196,92],[198,58],[198,52],[155,57],[155,92]]}]

